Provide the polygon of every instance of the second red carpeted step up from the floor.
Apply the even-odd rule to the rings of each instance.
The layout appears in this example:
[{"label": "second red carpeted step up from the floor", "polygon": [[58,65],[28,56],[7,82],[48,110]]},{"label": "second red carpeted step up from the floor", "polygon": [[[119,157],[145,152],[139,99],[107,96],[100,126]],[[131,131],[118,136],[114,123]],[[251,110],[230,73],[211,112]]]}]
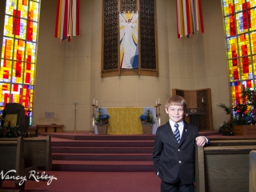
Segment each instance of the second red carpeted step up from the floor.
[{"label": "second red carpeted step up from the floor", "polygon": [[52,159],[66,161],[151,161],[152,154],[52,154]]}]

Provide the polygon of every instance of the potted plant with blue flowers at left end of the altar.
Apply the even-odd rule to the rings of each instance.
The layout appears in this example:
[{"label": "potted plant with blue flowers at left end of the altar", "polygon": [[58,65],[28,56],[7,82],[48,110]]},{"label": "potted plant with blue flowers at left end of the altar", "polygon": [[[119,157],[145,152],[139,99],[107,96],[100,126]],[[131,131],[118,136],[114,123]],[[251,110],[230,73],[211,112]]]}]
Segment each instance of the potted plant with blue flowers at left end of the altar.
[{"label": "potted plant with blue flowers at left end of the altar", "polygon": [[95,124],[98,128],[98,134],[107,134],[107,126],[109,124],[110,115],[102,114],[101,110],[101,108],[98,108],[98,110],[96,111]]}]

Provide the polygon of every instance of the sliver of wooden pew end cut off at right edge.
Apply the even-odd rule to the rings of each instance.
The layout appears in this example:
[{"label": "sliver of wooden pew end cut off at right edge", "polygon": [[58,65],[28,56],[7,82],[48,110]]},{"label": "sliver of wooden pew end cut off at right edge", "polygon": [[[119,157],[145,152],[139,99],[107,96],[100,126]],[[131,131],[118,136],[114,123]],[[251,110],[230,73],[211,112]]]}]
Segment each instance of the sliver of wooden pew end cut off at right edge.
[{"label": "sliver of wooden pew end cut off at right edge", "polygon": [[249,190],[256,191],[256,150],[250,151],[250,175],[249,175]]}]

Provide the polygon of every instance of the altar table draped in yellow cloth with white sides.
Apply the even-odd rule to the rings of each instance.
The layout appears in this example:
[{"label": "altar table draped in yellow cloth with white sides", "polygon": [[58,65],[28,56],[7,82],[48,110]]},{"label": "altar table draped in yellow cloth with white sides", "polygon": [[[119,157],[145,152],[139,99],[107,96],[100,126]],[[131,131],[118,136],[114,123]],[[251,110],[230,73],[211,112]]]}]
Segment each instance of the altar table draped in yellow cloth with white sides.
[{"label": "altar table draped in yellow cloth with white sides", "polygon": [[[158,121],[154,107],[101,107],[102,114],[109,114],[107,134],[143,134],[139,116],[150,110],[156,123],[153,124],[152,134],[158,129]],[[94,134],[98,128],[94,126]]]}]

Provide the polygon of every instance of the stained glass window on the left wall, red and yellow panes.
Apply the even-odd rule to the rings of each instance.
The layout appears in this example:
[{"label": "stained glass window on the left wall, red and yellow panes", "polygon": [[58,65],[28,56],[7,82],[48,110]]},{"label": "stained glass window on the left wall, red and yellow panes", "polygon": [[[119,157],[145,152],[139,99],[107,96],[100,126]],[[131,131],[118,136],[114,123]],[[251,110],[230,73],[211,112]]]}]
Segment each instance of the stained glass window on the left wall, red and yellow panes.
[{"label": "stained glass window on the left wall, red and yellow panes", "polygon": [[[18,102],[31,117],[40,0],[6,0],[0,66],[0,109]],[[32,119],[30,118],[30,125]]]}]

